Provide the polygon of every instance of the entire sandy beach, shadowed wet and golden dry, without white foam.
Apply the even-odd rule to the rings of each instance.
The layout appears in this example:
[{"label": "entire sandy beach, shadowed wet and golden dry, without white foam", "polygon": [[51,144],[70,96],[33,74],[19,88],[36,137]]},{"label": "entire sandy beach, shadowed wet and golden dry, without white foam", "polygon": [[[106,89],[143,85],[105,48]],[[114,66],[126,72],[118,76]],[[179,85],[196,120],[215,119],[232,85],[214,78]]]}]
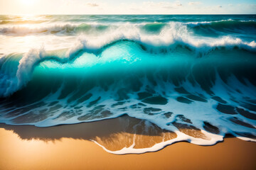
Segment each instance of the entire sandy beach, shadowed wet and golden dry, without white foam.
[{"label": "entire sandy beach, shadowed wet and golden dry, without white foam", "polygon": [[[95,123],[36,128],[0,124],[0,169],[256,169],[256,143],[234,137],[203,147],[178,142],[158,152],[115,155],[109,149],[129,146],[136,126],[137,147],[150,147],[175,137],[156,126],[144,130],[141,120],[130,118]],[[125,118],[127,120],[127,118]],[[127,122],[127,121],[125,121]]]}]

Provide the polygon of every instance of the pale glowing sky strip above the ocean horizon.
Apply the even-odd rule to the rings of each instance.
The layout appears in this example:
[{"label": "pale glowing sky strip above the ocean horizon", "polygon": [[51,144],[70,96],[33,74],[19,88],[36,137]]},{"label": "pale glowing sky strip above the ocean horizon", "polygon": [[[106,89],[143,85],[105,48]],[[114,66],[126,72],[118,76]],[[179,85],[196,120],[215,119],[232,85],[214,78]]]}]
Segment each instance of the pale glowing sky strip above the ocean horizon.
[{"label": "pale glowing sky strip above the ocean horizon", "polygon": [[256,14],[256,0],[0,0],[0,14]]}]

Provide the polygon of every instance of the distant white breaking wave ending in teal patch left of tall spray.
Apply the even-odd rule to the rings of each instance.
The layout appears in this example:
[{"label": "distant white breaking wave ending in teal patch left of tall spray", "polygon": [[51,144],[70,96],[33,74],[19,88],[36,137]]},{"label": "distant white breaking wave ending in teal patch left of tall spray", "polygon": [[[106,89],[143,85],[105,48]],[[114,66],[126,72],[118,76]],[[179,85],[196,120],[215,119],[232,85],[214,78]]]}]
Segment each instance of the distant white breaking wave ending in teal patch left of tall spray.
[{"label": "distant white breaking wave ending in teal patch left of tall spray", "polygon": [[77,35],[84,33],[86,35],[98,35],[102,33],[123,31],[133,32],[134,29],[140,30],[142,33],[161,33],[161,30],[169,25],[168,23],[53,23],[41,25],[20,25],[20,26],[6,26],[0,28],[0,34],[12,36],[24,35]]}]

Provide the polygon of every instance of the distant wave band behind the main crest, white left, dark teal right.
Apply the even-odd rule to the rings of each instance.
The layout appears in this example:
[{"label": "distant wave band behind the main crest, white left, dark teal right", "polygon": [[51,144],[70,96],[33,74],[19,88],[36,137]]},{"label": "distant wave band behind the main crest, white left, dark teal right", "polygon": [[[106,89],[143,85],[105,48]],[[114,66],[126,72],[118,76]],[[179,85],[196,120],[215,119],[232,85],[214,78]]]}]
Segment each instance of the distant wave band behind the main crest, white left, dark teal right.
[{"label": "distant wave band behind the main crest, white left, dark teal right", "polygon": [[[1,21],[7,22],[7,21]],[[192,23],[180,23],[180,22],[169,22],[169,23],[47,23],[43,26],[40,24],[26,25],[3,25],[0,27],[1,35],[12,35],[12,36],[23,36],[23,35],[101,35],[102,33],[112,32],[134,32],[139,31],[140,34],[151,34],[159,35],[166,31],[166,28],[178,31],[181,28],[192,28],[193,30],[198,29],[212,29],[212,31],[223,31],[224,33],[230,30],[256,30],[255,21],[203,21],[203,22],[192,22]],[[168,31],[168,30],[167,30]],[[216,32],[218,33],[218,32]]]}]

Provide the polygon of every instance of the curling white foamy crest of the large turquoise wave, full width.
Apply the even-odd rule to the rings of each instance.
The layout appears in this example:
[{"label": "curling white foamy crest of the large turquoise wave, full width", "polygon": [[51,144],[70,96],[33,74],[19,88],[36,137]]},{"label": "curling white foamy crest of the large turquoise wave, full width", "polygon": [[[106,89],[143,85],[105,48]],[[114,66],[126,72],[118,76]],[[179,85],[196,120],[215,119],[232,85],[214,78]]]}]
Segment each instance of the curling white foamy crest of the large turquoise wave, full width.
[{"label": "curling white foamy crest of the large turquoise wave, full width", "polygon": [[255,41],[243,42],[238,38],[233,39],[226,37],[216,39],[212,42],[206,42],[202,40],[193,40],[192,38],[183,37],[181,35],[179,36],[179,34],[174,31],[171,31],[171,33],[172,36],[170,36],[170,33],[167,33],[169,37],[161,35],[156,38],[155,36],[138,36],[137,34],[123,34],[121,32],[119,34],[101,36],[99,39],[80,39],[75,45],[73,45],[73,47],[65,50],[65,55],[61,53],[62,55],[49,56],[46,55],[46,51],[43,48],[40,50],[32,49],[25,53],[21,60],[19,60],[14,80],[12,80],[13,78],[11,78],[11,81],[10,79],[8,81],[6,81],[5,78],[2,79],[3,82],[1,84],[6,84],[6,82],[10,81],[11,85],[7,85],[10,84],[7,83],[4,86],[5,88],[1,89],[1,96],[9,96],[18,89],[21,89],[21,87],[25,86],[31,79],[34,67],[45,60],[55,60],[61,63],[72,62],[79,57],[81,52],[90,52],[95,55],[100,55],[105,51],[105,49],[118,42],[134,42],[137,45],[140,45],[142,50],[152,54],[171,53],[178,47],[181,47],[183,50],[190,50],[198,57],[208,55],[209,52],[213,52],[215,50],[241,49],[249,52],[256,51]]}]

